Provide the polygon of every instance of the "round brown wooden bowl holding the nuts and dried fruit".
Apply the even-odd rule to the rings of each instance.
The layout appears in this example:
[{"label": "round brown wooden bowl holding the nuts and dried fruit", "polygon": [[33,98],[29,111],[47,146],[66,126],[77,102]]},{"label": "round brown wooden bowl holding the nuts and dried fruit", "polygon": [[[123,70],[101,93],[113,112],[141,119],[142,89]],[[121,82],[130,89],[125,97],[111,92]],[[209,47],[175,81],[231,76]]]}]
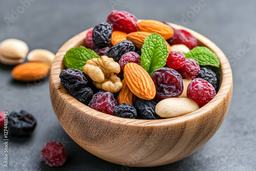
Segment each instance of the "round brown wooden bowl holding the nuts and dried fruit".
[{"label": "round brown wooden bowl holding the nuts and dried fruit", "polygon": [[217,75],[220,89],[214,99],[199,110],[159,120],[126,119],[98,112],[72,97],[60,83],[66,52],[84,46],[86,30],[68,40],[56,53],[50,74],[50,94],[55,114],[67,134],[82,148],[106,161],[136,167],[150,167],[181,160],[202,147],[219,129],[229,108],[232,72],[224,53],[201,34],[192,33],[199,46],[206,46],[220,60]]}]

